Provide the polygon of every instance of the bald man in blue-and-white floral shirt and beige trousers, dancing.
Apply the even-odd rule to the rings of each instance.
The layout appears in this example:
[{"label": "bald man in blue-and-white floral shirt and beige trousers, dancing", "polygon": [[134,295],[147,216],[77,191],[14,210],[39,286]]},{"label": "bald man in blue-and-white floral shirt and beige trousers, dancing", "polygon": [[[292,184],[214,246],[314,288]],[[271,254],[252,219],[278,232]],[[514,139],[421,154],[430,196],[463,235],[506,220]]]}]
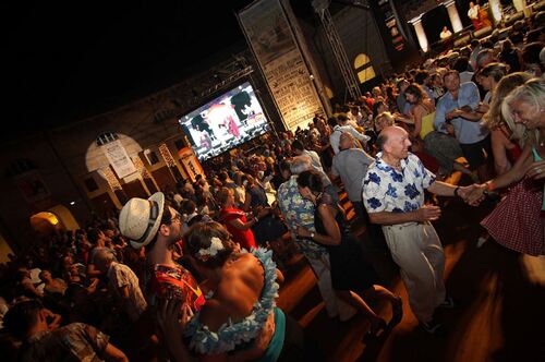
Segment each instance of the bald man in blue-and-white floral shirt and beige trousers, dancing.
[{"label": "bald man in blue-and-white floral shirt and beige trousers, dancing", "polygon": [[399,126],[385,128],[377,138],[380,150],[363,181],[363,202],[371,221],[383,226],[386,243],[399,265],[411,309],[422,328],[440,330],[434,321],[438,306],[452,307],[446,298],[445,254],[429,221],[439,218],[437,206],[424,205],[424,190],[463,200],[473,186],[436,181],[422,161],[409,152],[409,134]]}]

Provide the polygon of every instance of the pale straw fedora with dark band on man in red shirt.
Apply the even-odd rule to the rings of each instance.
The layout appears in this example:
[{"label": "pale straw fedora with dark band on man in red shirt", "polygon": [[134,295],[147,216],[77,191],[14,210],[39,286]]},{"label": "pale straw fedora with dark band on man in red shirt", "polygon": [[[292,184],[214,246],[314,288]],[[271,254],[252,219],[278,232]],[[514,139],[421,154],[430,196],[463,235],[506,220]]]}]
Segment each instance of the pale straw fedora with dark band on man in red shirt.
[{"label": "pale straw fedora with dark band on man in red shirt", "polygon": [[161,224],[165,195],[156,192],[148,200],[133,197],[121,209],[119,230],[135,249],[147,245]]}]

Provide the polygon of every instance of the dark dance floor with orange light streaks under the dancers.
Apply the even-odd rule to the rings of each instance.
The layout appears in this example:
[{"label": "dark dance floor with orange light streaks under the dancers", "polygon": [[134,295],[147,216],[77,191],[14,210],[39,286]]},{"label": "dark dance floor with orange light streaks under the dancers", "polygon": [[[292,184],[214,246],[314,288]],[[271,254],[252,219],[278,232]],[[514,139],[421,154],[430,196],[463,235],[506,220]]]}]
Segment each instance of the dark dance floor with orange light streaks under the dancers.
[{"label": "dark dance floor with orange light streaks under the dancers", "polygon": [[[447,257],[447,291],[458,302],[436,315],[448,328],[445,336],[417,327],[396,265],[385,249],[365,238],[366,255],[404,301],[403,321],[391,333],[365,343],[364,317],[329,318],[304,258],[287,270],[279,305],[300,322],[327,361],[545,361],[545,260],[520,256],[494,241],[476,248],[479,220],[489,209],[451,200],[435,224]],[[355,221],[354,228],[360,226]],[[389,306],[374,305],[390,318]]]}]

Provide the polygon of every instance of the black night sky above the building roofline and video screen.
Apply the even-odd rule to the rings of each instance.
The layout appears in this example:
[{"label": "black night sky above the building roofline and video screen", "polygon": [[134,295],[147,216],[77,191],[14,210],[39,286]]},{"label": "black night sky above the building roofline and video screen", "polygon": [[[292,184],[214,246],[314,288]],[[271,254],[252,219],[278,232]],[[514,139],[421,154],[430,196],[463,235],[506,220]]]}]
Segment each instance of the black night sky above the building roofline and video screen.
[{"label": "black night sky above the building roofline and video screen", "polygon": [[[251,0],[40,1],[0,5],[2,140],[107,111],[171,86],[244,44],[234,11]],[[7,81],[7,82],[5,82]]]}]

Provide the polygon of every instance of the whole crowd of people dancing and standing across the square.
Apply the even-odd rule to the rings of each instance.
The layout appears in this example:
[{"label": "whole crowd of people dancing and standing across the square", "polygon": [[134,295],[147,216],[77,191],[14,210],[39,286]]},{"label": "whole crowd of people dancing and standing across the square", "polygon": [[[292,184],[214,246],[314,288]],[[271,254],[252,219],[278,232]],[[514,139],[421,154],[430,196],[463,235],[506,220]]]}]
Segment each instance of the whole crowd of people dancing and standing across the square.
[{"label": "whole crowd of people dancing and standing across the square", "polygon": [[[385,242],[421,327],[443,329],[445,255],[431,194],[476,206],[496,197],[484,239],[541,255],[545,209],[543,28],[428,59],[305,130],[266,134],[119,215],[95,217],[1,268],[8,359],[320,360],[276,305],[295,254],[325,310],[361,312],[367,338],[393,328],[402,301],[362,255],[339,194]],[[519,33],[517,33],[519,34]],[[514,35],[517,35],[514,34]],[[451,183],[461,172],[468,185]],[[500,198],[500,201],[499,201]],[[468,206],[469,207],[469,206]],[[370,298],[391,305],[383,319]]]}]

